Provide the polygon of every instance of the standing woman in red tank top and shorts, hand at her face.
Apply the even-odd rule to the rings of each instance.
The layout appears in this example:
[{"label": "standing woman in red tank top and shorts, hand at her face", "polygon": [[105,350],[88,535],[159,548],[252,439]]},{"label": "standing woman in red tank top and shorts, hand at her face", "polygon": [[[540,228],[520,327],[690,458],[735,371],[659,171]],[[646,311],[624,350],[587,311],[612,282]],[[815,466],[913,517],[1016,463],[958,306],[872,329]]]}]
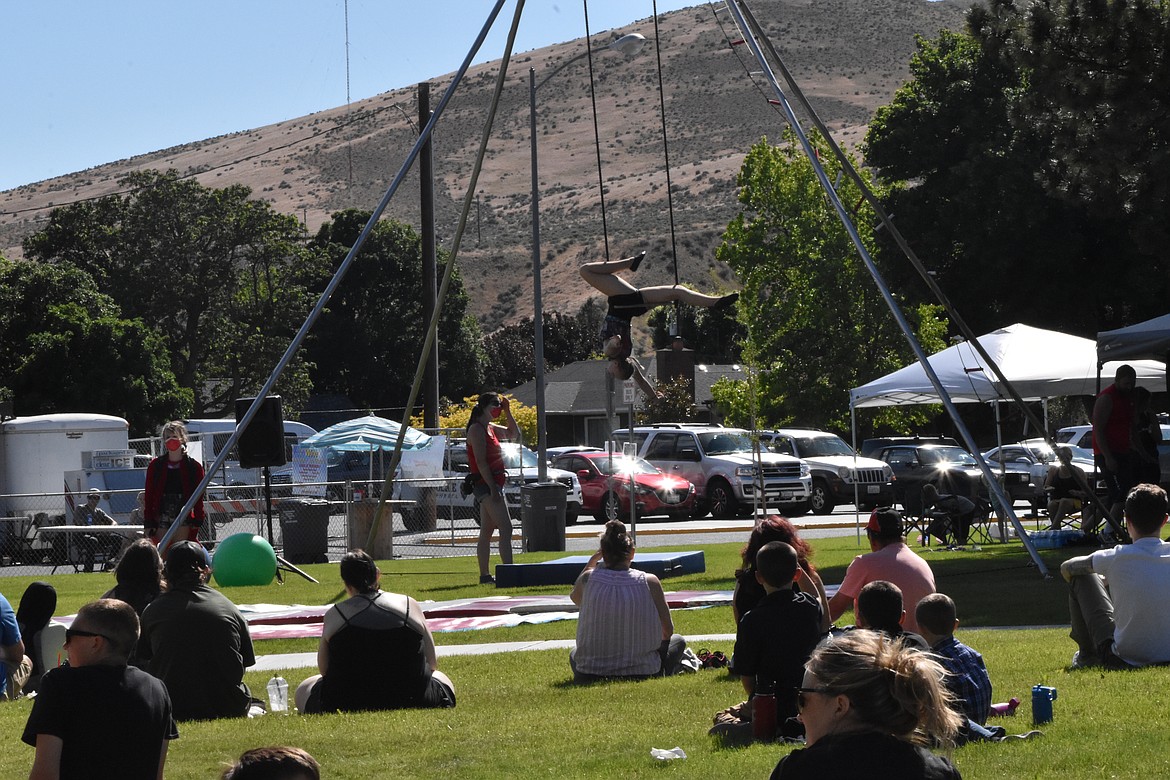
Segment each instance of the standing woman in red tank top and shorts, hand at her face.
[{"label": "standing woman in red tank top and shorts, hand at her face", "polygon": [[[508,427],[496,424],[503,415]],[[480,582],[495,582],[488,571],[491,555],[491,532],[500,529],[500,559],[511,562],[511,518],[504,502],[504,457],[500,437],[518,440],[519,427],[511,416],[511,403],[498,393],[483,393],[472,409],[467,423],[467,460],[472,467],[472,492],[480,505],[480,539],[475,554],[480,559]]]}]

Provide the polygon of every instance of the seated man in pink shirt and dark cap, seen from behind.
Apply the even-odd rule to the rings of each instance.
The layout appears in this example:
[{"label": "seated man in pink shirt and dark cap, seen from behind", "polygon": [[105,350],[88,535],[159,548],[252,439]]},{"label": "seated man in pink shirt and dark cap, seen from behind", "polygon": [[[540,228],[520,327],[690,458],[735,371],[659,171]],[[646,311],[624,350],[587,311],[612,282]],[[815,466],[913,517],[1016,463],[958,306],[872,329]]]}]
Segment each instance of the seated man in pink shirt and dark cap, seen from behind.
[{"label": "seated man in pink shirt and dark cap, seen from behind", "polygon": [[[853,559],[845,571],[845,581],[828,600],[828,615],[834,621],[846,609],[854,607],[861,588],[875,580],[896,585],[907,605],[917,605],[923,596],[935,592],[935,575],[930,566],[906,545],[901,512],[888,506],[875,509],[866,525],[866,536],[873,552]],[[918,633],[918,621],[913,609],[906,610],[904,628]]]}]

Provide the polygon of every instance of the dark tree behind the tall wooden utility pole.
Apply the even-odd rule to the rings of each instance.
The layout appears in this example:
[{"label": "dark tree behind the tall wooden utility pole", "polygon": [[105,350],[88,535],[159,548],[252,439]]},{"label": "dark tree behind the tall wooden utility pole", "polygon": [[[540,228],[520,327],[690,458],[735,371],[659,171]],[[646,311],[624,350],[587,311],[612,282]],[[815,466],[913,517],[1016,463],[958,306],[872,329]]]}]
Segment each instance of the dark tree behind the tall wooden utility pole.
[{"label": "dark tree behind the tall wooden utility pole", "polygon": [[[336,270],[370,220],[370,212],[333,214],[312,246]],[[440,257],[442,265],[449,262]],[[462,277],[454,272],[439,318],[439,382],[462,398],[482,382],[479,327],[467,315]],[[309,356],[318,392],[347,395],[358,406],[402,408],[429,323],[422,311],[422,242],[407,225],[374,226],[317,323]]]}]

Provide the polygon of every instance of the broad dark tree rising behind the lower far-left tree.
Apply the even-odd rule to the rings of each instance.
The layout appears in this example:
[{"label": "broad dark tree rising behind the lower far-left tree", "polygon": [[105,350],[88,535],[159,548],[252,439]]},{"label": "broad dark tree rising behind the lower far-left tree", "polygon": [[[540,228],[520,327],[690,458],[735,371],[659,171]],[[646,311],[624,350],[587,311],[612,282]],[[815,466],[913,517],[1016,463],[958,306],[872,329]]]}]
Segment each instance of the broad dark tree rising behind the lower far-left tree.
[{"label": "broad dark tree rising behind the lower far-left tree", "polygon": [[[288,348],[322,264],[296,219],[252,200],[248,187],[213,189],[174,171],[142,171],[122,184],[124,195],[54,209],[25,253],[90,274],[124,316],[161,336],[194,416],[228,415]],[[302,357],[276,392],[291,408],[303,403]]]}]

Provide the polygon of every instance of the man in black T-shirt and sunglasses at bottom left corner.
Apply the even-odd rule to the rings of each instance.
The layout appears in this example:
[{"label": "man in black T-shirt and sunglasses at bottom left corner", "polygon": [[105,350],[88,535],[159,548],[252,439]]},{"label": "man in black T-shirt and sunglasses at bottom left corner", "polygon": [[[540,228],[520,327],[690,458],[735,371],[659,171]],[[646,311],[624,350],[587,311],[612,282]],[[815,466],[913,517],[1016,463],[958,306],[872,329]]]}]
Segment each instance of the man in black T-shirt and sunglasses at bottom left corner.
[{"label": "man in black T-shirt and sunglasses at bottom left corner", "polygon": [[66,630],[69,665],[41,679],[21,739],[36,748],[29,778],[163,776],[179,736],[163,683],[126,660],[138,615],[117,599],[91,601]]}]

